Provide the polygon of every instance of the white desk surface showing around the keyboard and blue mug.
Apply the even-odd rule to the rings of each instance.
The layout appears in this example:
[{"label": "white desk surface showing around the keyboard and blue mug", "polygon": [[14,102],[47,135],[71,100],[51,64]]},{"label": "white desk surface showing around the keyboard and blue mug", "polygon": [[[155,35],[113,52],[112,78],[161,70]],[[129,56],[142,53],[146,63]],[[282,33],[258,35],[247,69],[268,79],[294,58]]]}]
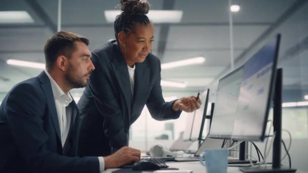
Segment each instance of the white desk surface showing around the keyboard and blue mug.
[{"label": "white desk surface showing around the keyboard and blue mug", "polygon": [[[180,170],[193,170],[194,173],[206,172],[204,166],[200,164],[199,161],[189,161],[189,162],[166,162],[169,167],[179,168]],[[117,169],[108,169],[105,172],[109,173]],[[144,171],[146,172],[146,171]],[[239,167],[228,166],[227,172],[242,172]],[[308,171],[297,170],[296,173],[308,173]]]}]

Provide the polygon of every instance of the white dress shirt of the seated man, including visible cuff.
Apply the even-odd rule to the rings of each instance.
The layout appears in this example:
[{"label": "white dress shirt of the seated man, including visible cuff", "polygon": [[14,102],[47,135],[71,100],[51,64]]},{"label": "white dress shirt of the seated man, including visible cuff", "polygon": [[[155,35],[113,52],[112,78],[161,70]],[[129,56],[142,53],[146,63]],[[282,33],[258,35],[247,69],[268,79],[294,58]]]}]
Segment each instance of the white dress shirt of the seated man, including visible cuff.
[{"label": "white dress shirt of the seated man, including visible cuff", "polygon": [[[73,101],[73,99],[70,96],[70,93],[66,95],[61,90],[60,86],[51,77],[51,75],[48,73],[47,70],[45,70],[45,73],[47,74],[50,80],[52,93],[55,99],[55,105],[57,109],[58,121],[59,121],[59,127],[60,127],[61,144],[63,148],[68,132],[69,132],[69,126],[73,125],[73,124],[70,124],[70,119],[72,116],[72,109],[71,107],[68,107],[67,112],[66,112],[65,108],[70,104],[70,102]],[[105,160],[103,157],[98,157],[98,161],[99,161],[99,170],[102,172],[105,169]]]}]

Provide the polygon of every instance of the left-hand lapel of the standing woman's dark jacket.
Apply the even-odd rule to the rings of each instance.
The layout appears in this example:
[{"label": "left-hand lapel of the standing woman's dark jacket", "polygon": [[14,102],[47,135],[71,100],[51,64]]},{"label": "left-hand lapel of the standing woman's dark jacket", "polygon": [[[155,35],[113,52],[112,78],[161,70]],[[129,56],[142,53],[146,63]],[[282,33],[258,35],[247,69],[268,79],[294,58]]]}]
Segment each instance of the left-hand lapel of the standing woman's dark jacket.
[{"label": "left-hand lapel of the standing woman's dark jacket", "polygon": [[[119,49],[119,48],[113,48],[113,50],[114,49]],[[124,94],[126,106],[128,109],[128,114],[130,116],[133,96],[130,88],[131,84],[129,80],[127,64],[119,50],[114,50],[114,55],[115,56],[112,59],[111,66],[115,74],[115,77],[117,77],[120,88]]]}]

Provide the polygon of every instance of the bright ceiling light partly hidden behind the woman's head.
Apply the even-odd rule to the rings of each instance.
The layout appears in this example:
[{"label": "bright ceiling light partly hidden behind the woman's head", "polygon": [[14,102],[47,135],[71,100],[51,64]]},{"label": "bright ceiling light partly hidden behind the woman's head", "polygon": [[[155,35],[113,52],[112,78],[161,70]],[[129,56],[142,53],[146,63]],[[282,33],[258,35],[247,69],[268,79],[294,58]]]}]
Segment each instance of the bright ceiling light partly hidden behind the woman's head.
[{"label": "bright ceiling light partly hidden behind the woman's head", "polygon": [[[122,13],[121,10],[105,10],[107,22],[113,23],[115,17]],[[179,23],[183,12],[180,10],[150,10],[146,16],[152,23]]]}]

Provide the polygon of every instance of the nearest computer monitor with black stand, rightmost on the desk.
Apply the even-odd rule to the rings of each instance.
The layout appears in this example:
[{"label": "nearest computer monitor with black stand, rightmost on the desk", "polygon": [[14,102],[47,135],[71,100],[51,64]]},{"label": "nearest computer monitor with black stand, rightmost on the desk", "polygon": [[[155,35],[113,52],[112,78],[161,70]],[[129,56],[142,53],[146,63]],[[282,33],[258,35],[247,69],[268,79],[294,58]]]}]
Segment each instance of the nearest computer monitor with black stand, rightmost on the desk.
[{"label": "nearest computer monitor with black stand, rightmost on the desk", "polygon": [[[282,131],[282,69],[276,69],[280,34],[269,41],[244,65],[237,118],[233,139],[263,141],[268,112],[274,103],[274,143],[272,166],[242,167],[243,172],[295,172],[294,168],[281,165]],[[275,94],[275,97],[274,97]]]}]

